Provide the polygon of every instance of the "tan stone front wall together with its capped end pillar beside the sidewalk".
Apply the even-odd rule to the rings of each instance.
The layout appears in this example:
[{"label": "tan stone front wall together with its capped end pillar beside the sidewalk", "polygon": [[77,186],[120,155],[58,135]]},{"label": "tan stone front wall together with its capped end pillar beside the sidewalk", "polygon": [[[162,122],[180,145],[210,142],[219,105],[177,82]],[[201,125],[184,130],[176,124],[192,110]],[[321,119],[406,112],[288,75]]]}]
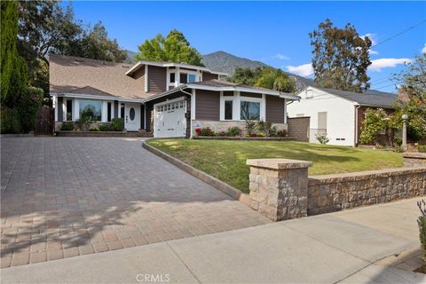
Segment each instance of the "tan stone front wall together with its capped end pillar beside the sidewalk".
[{"label": "tan stone front wall together with its capped end pillar beside the sidewalk", "polygon": [[308,177],[312,162],[255,159],[247,164],[250,207],[273,221],[426,194],[426,166]]}]

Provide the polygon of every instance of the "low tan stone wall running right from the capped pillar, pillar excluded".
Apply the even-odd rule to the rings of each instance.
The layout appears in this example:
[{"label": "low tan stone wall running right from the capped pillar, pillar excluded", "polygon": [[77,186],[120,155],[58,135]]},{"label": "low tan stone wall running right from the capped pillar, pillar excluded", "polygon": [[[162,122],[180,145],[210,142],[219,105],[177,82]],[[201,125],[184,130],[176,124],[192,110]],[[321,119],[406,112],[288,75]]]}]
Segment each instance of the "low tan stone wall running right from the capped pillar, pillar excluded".
[{"label": "low tan stone wall running right from the capped pillar, pillar excluded", "polygon": [[426,168],[310,177],[308,215],[397,201],[426,193]]}]

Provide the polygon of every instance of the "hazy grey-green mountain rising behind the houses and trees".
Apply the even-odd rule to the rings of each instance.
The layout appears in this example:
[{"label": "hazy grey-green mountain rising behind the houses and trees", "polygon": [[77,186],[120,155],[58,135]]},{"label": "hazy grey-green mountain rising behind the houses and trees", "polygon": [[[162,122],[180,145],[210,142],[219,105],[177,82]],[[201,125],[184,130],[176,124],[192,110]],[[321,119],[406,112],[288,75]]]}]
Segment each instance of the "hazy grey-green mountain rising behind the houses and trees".
[{"label": "hazy grey-green mountain rising behind the houses and trees", "polygon": [[[237,67],[250,68],[250,69],[254,69],[256,67],[271,67],[267,64],[264,64],[264,62],[245,59],[245,58],[227,53],[225,51],[216,51],[213,53],[203,55],[202,62],[210,70],[225,72],[229,75],[233,75],[233,71]],[[304,89],[304,87],[306,87],[307,85],[315,84],[312,79],[304,78],[302,76],[295,75],[288,72],[286,73],[288,74],[290,78],[293,78],[293,80],[296,81],[297,91]]]}]

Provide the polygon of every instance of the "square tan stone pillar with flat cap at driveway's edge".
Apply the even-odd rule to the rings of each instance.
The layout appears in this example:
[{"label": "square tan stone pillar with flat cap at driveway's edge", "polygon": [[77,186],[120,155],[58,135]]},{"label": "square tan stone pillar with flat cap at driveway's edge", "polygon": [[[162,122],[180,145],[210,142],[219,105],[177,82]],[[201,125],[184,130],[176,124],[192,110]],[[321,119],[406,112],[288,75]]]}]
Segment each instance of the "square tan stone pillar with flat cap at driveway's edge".
[{"label": "square tan stone pillar with flat cap at driveway's edge", "polygon": [[252,159],[250,207],[273,221],[306,217],[308,168],[312,162],[287,159]]}]

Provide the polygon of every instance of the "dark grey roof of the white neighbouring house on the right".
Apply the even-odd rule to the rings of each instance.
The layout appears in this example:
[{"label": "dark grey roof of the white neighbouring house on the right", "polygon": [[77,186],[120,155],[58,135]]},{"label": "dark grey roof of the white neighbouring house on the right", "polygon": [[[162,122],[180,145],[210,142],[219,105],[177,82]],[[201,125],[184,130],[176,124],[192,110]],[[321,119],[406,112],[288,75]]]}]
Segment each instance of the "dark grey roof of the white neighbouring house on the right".
[{"label": "dark grey roof of the white neighbouring house on the right", "polygon": [[[398,95],[390,92],[369,90],[363,93],[355,91],[341,91],[335,89],[320,88],[318,86],[308,86],[321,91],[327,91],[337,97],[348,99],[359,104],[359,106],[375,106],[392,108],[398,100]],[[306,88],[305,88],[306,89]]]}]

